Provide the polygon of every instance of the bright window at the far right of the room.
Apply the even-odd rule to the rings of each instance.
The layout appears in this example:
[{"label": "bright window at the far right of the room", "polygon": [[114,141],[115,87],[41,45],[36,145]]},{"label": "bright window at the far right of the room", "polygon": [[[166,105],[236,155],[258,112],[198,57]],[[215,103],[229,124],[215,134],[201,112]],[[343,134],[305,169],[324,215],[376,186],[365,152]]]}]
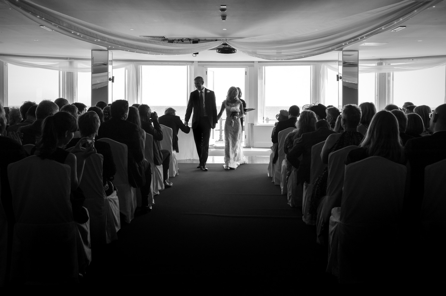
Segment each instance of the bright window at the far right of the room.
[{"label": "bright window at the far right of the room", "polygon": [[394,72],[393,104],[405,102],[435,109],[445,100],[445,66],[424,70]]}]

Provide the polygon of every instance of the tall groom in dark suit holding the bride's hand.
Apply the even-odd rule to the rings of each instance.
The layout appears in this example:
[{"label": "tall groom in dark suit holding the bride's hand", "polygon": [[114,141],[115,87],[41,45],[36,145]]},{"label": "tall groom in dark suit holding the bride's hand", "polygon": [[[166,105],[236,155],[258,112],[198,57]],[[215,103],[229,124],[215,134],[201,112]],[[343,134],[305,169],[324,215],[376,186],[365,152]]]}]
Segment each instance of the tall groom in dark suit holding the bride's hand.
[{"label": "tall groom in dark suit holding the bride's hand", "polygon": [[186,116],[184,124],[189,124],[190,114],[192,116],[192,131],[194,132],[195,146],[197,147],[200,163],[197,168],[207,171],[206,161],[209,154],[209,138],[211,137],[211,128],[217,125],[217,106],[215,105],[215,94],[213,91],[204,87],[204,80],[198,76],[194,79],[194,85],[197,90],[190,93],[189,102],[187,102]]}]

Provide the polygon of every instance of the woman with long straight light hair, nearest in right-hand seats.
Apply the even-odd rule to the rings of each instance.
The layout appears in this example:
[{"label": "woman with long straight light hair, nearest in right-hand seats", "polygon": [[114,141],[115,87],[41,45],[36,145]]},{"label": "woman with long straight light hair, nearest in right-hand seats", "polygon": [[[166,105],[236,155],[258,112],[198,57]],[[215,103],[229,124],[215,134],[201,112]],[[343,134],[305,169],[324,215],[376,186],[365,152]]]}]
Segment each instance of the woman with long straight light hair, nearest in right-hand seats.
[{"label": "woman with long straight light hair, nearest in right-hand seats", "polygon": [[370,156],[381,156],[396,163],[405,164],[398,120],[393,112],[404,114],[404,112],[394,109],[392,112],[381,110],[373,116],[364,140],[359,144],[359,148],[348,152],[345,164],[351,164]]}]

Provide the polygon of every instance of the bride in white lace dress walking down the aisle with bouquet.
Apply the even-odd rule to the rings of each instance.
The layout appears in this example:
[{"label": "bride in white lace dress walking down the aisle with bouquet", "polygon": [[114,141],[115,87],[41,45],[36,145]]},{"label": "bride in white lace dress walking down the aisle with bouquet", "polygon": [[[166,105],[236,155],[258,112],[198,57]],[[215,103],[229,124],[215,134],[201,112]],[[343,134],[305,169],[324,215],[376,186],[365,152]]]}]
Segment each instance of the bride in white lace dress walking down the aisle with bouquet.
[{"label": "bride in white lace dress walking down the aisle with bouquet", "polygon": [[242,101],[238,98],[239,91],[231,86],[227,91],[226,100],[222,103],[217,120],[226,109],[226,122],[224,125],[224,166],[225,170],[235,170],[240,164],[245,164],[246,159],[242,149],[242,126],[240,118],[244,116]]}]

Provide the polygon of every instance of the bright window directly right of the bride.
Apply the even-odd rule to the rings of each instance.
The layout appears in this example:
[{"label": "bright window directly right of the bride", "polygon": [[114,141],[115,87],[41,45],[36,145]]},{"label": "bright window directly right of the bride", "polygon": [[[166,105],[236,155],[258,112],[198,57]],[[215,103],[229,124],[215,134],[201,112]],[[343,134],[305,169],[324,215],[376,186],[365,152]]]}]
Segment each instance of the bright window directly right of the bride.
[{"label": "bright window directly right of the bride", "polygon": [[264,116],[259,123],[274,124],[281,109],[311,103],[311,66],[266,66],[264,86]]}]

